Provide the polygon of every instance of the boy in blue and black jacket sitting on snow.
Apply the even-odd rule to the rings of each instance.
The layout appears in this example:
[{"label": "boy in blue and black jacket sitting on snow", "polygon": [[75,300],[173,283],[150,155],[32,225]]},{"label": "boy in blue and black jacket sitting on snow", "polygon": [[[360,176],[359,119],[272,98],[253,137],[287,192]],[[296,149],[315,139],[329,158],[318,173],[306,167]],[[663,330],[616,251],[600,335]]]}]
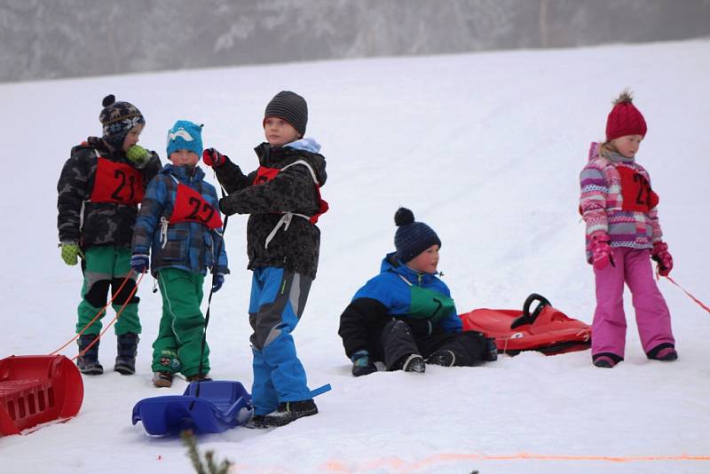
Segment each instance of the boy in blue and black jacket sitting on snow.
[{"label": "boy in blue and black jacket sitting on snow", "polygon": [[473,366],[495,360],[493,341],[480,333],[461,332],[449,288],[437,277],[437,234],[399,208],[396,252],[383,259],[380,274],[367,281],[340,317],[338,334],[352,360],[352,375],[387,370],[424,372],[426,363]]}]

